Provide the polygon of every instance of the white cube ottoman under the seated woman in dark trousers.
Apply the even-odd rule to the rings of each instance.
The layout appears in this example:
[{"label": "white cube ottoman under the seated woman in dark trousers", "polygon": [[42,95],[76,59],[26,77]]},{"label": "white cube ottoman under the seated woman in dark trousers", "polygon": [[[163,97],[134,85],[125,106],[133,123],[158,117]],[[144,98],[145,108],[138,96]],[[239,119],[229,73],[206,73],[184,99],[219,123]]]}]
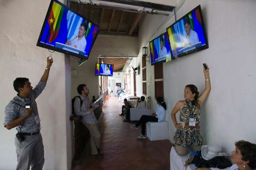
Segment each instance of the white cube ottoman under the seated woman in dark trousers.
[{"label": "white cube ottoman under the seated woman in dark trousers", "polygon": [[168,139],[168,122],[147,122],[146,124],[147,137],[151,141]]}]

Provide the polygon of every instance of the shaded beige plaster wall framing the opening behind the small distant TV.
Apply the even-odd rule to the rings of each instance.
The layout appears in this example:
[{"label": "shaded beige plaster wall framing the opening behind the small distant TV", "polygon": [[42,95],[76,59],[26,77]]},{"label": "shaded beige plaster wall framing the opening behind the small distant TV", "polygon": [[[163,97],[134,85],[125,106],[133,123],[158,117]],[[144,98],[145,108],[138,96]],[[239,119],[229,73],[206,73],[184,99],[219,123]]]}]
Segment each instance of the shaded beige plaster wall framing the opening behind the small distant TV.
[{"label": "shaded beige plaster wall framing the opening behind the small distant TV", "polygon": [[[99,76],[95,76],[95,68],[96,62],[98,62],[98,56],[137,56],[137,39],[137,37],[98,35],[90,53],[90,57],[86,62],[84,62],[84,64],[78,66],[77,59],[71,59],[71,68],[77,70],[77,76],[72,77],[72,96],[77,95],[76,88],[79,84],[82,83],[86,84],[90,89],[90,98],[92,96],[98,96]],[[122,82],[122,88],[124,88],[124,80]]]}]

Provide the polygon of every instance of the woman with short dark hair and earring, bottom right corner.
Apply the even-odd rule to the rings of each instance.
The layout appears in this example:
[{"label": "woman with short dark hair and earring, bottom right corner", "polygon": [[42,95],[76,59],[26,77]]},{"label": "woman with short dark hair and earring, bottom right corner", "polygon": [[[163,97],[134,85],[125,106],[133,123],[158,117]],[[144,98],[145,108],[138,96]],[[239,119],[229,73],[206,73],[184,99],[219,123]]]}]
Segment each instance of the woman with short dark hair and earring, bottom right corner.
[{"label": "woman with short dark hair and earring, bottom right corner", "polygon": [[226,169],[218,168],[197,168],[196,170],[254,170],[256,168],[256,144],[247,141],[235,143],[236,150],[232,152],[231,161],[233,164]]}]

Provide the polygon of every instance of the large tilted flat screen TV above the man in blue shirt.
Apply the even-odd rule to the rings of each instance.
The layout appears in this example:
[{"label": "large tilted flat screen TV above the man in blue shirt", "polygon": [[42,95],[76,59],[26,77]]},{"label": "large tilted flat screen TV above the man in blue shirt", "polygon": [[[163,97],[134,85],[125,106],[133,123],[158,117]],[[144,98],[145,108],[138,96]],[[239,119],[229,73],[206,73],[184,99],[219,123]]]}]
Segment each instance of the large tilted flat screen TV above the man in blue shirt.
[{"label": "large tilted flat screen TV above the man in blue shirt", "polygon": [[88,59],[99,26],[51,0],[37,46]]}]

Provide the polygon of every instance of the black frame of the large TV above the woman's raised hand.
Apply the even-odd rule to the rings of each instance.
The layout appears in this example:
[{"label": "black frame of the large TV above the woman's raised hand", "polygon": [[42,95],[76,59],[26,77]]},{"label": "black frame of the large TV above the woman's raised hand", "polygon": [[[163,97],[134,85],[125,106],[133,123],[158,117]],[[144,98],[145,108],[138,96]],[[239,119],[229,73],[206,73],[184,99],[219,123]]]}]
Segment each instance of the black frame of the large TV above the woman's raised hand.
[{"label": "black frame of the large TV above the woman's raised hand", "polygon": [[[203,31],[204,31],[204,38],[205,38],[205,43],[206,45],[204,46],[201,46],[199,48],[195,48],[191,51],[187,51],[186,53],[183,53],[183,54],[178,54],[177,56],[173,56],[172,54],[172,46],[171,46],[171,43],[170,43],[170,40],[169,40],[169,35],[168,35],[168,31],[167,29],[172,27],[173,25],[175,25],[176,23],[178,23],[180,20],[182,20],[184,17],[186,17],[189,13],[191,13],[192,11],[194,11],[196,8],[199,8],[199,11],[200,11],[200,17],[201,17],[201,21],[202,21],[202,27],[203,27]],[[207,49],[209,48],[209,45],[208,45],[208,39],[207,39],[207,35],[205,33],[205,27],[204,27],[204,19],[203,19],[203,15],[202,15],[202,10],[201,10],[201,5],[198,5],[197,7],[195,7],[194,9],[192,9],[191,11],[189,11],[186,15],[184,15],[183,17],[181,17],[179,20],[177,20],[175,23],[173,23],[171,26],[167,27],[166,28],[166,32],[167,32],[167,37],[168,37],[168,41],[169,41],[169,45],[170,45],[170,48],[171,48],[171,55],[173,58],[176,58],[176,57],[183,57],[183,56],[186,56],[188,54],[192,54],[192,53],[195,53],[197,51],[201,51],[201,50],[204,50],[204,49]]]}]

